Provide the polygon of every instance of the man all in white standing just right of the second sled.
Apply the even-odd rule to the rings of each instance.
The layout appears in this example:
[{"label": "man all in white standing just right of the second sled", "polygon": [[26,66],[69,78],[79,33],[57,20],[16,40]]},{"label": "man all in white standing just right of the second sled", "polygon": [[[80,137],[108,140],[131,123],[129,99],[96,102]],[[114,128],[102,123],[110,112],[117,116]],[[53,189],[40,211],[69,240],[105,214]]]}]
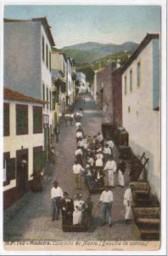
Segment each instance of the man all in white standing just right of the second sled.
[{"label": "man all in white standing just right of the second sled", "polygon": [[110,155],[109,160],[104,166],[104,171],[108,171],[109,187],[115,187],[116,163],[115,160],[113,160],[112,155]]}]

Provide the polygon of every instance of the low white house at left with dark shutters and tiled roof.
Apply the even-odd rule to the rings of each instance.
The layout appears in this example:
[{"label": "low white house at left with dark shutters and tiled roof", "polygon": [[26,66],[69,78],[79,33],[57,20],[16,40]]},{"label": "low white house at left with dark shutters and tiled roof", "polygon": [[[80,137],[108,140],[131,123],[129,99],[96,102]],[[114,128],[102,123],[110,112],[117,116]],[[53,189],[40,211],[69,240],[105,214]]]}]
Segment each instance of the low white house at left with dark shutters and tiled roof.
[{"label": "low white house at left with dark shutters and tiled roof", "polygon": [[[3,203],[10,207],[31,189],[31,174],[42,172],[42,102],[4,88]],[[22,160],[25,161],[22,166]]]}]

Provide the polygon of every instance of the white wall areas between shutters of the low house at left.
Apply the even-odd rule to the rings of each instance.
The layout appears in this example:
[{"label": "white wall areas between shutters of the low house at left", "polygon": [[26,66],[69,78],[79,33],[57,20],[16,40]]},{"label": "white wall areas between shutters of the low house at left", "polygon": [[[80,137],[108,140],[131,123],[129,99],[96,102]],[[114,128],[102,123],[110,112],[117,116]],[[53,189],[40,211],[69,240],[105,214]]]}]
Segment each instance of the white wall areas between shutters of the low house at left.
[{"label": "white wall areas between shutters of the low house at left", "polygon": [[[8,101],[4,101],[8,102]],[[28,105],[28,134],[16,136],[16,111],[15,105],[23,104]],[[22,102],[10,102],[9,104],[9,127],[10,135],[3,137],[3,152],[10,152],[10,158],[16,157],[16,150],[28,148],[28,180],[31,180],[30,175],[33,172],[33,148],[40,147],[43,143],[43,133],[33,134],[33,106],[40,106],[36,103],[22,103]],[[16,180],[11,180],[7,186],[3,187],[3,190],[12,189],[16,186]]]}]

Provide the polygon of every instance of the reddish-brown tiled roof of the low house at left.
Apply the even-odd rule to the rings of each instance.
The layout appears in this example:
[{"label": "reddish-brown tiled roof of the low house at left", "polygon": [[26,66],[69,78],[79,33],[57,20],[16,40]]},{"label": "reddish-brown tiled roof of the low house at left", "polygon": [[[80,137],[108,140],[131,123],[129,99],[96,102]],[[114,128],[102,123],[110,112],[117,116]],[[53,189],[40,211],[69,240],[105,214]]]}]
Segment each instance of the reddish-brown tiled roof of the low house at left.
[{"label": "reddish-brown tiled roof of the low house at left", "polygon": [[3,88],[3,98],[5,100],[18,101],[18,102],[32,102],[32,103],[39,103],[39,104],[47,103],[47,102],[43,102],[40,99],[36,99],[30,96],[25,96],[20,92],[10,90],[7,87]]}]

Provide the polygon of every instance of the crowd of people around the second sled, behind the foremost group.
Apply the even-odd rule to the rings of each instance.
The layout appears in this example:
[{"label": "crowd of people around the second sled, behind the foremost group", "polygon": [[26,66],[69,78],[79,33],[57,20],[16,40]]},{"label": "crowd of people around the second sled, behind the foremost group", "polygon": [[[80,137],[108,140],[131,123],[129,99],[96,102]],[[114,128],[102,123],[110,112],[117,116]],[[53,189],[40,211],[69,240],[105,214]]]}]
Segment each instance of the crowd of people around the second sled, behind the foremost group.
[{"label": "crowd of people around the second sled, behind the foremost group", "polygon": [[86,136],[80,122],[76,122],[76,160],[73,166],[76,189],[81,189],[81,177],[85,176],[90,189],[103,187],[105,174],[108,174],[109,187],[115,187],[115,172],[120,187],[125,186],[126,163],[120,157],[118,165],[114,160],[114,143],[100,132]]}]

